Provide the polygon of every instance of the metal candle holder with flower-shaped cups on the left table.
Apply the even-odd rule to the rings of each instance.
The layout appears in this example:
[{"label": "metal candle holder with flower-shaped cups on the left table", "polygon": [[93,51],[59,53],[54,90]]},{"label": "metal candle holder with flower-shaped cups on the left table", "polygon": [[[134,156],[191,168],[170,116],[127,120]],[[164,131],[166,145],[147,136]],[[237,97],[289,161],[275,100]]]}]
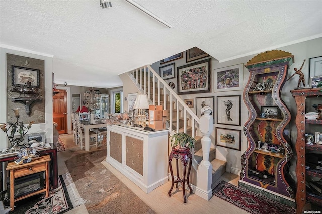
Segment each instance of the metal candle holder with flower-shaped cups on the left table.
[{"label": "metal candle holder with flower-shaped cups on the left table", "polygon": [[[26,127],[24,125],[24,122],[19,122],[19,109],[17,108],[13,111],[15,113],[17,121],[15,123],[9,122],[8,125],[6,125],[5,123],[1,123],[0,129],[6,132],[9,142],[11,144],[11,146],[8,148],[8,151],[15,152],[17,150],[20,150],[22,147],[25,147],[25,145],[22,144],[22,142],[24,142],[25,135],[31,128],[31,125],[34,123],[34,121],[29,122],[28,126]],[[16,132],[19,133],[19,135],[15,135]]]}]

